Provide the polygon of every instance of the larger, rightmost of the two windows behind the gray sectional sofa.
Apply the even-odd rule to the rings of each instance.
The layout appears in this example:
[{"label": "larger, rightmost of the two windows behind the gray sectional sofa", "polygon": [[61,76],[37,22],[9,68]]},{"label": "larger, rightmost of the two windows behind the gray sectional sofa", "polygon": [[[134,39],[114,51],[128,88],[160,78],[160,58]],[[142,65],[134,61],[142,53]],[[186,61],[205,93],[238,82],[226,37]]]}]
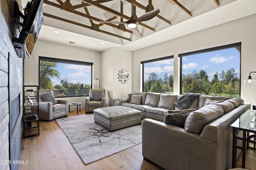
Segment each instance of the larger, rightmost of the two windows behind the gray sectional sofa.
[{"label": "larger, rightmost of the two windows behind the gray sectional sofa", "polygon": [[180,94],[240,96],[241,43],[179,55]]}]

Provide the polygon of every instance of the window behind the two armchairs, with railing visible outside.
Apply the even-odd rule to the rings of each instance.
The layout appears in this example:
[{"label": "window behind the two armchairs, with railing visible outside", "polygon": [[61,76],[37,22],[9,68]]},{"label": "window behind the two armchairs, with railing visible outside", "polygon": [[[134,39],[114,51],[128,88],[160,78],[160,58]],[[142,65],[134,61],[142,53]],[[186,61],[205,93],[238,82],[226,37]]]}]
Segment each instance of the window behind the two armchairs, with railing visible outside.
[{"label": "window behind the two armchairs, with railing visible outside", "polygon": [[89,96],[92,65],[82,61],[39,57],[39,88],[52,89],[55,97]]}]

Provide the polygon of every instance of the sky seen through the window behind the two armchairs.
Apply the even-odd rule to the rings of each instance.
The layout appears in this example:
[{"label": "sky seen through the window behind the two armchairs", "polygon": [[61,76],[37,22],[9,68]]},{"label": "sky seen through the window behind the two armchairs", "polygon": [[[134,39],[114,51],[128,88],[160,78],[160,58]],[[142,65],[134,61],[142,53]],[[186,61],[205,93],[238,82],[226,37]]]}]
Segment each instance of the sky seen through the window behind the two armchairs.
[{"label": "sky seen through the window behind the two armchairs", "polygon": [[60,81],[65,78],[68,79],[68,82],[74,84],[78,82],[80,82],[80,84],[91,84],[91,66],[57,63],[57,67],[54,69],[60,72],[60,79],[53,78],[53,85],[60,84]]}]

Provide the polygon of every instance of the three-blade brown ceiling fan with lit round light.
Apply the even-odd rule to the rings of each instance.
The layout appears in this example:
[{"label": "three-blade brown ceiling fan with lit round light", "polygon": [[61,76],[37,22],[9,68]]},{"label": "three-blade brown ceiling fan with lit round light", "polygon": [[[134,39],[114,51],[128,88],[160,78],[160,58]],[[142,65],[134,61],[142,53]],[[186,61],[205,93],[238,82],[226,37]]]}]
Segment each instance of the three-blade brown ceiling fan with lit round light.
[{"label": "three-blade brown ceiling fan with lit round light", "polygon": [[142,16],[140,16],[139,18],[133,20],[128,20],[125,22],[116,22],[116,21],[99,21],[100,23],[119,23],[119,24],[124,24],[126,25],[128,28],[132,29],[132,33],[136,36],[136,37],[141,37],[140,31],[137,28],[137,25],[142,22],[142,21],[147,21],[150,20],[152,18],[154,18],[158,13],[160,12],[159,8],[156,8],[150,12],[146,12],[146,14],[143,14]]}]

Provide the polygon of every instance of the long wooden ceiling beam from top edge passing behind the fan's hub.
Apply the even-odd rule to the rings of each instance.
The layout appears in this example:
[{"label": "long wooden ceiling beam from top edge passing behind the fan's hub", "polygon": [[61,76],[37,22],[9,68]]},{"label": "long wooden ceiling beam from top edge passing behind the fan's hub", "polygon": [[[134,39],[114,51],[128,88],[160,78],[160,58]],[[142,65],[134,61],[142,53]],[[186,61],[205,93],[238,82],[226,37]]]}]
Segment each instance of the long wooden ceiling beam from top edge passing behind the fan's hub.
[{"label": "long wooden ceiling beam from top edge passing behind the fan's hub", "polygon": [[[102,9],[102,10],[104,10],[104,11],[110,12],[110,13],[116,15],[116,16],[120,16],[120,17],[122,17],[122,18],[125,18],[126,20],[130,20],[130,19],[131,19],[130,17],[128,17],[128,16],[126,16],[126,15],[124,15],[124,14],[121,14],[120,12],[117,12],[117,11],[115,11],[115,10],[112,10],[112,9],[110,9],[110,8],[108,8],[108,7],[106,7],[106,6],[103,6],[103,5],[101,5],[101,4],[98,4],[97,2],[94,2],[94,1],[92,1],[92,0],[82,0],[82,1],[86,2],[87,4],[91,4],[91,5],[93,5],[93,6],[96,6],[96,7],[100,8],[100,9]],[[142,25],[142,26],[144,26],[144,27],[146,27],[146,28],[148,28],[148,29],[151,29],[152,31],[155,31],[155,29],[154,29],[153,27],[150,27],[150,26],[148,26],[148,25],[146,25],[146,24],[144,24],[144,23],[141,23],[141,22],[140,22],[139,24]]]}]

